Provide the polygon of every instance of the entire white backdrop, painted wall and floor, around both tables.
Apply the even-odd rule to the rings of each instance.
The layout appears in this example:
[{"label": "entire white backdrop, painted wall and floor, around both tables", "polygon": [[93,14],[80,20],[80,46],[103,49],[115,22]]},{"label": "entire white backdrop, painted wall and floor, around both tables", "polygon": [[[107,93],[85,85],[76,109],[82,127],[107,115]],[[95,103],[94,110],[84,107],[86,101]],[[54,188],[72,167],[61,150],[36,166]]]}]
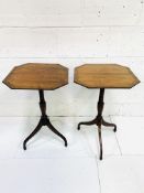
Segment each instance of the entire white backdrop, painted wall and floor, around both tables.
[{"label": "entire white backdrop, painted wall and floor, around both tables", "polygon": [[[69,68],[69,85],[45,92],[47,114],[68,147],[44,127],[35,128],[38,93],[14,90],[2,79],[29,62]],[[95,126],[77,124],[97,115],[98,89],[74,84],[85,63],[131,67],[141,83],[132,89],[106,89],[103,160]],[[0,0],[0,192],[144,192],[144,0]],[[88,129],[87,129],[88,128]]]}]

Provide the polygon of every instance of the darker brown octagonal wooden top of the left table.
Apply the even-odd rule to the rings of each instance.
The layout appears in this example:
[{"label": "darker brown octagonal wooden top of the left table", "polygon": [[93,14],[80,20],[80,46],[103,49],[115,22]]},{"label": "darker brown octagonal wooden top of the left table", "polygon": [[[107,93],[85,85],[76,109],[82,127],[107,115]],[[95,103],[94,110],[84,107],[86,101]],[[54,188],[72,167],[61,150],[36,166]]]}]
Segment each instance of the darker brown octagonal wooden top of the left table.
[{"label": "darker brown octagonal wooden top of the left table", "polygon": [[68,68],[59,64],[27,63],[15,66],[3,83],[13,89],[56,89],[68,84]]}]

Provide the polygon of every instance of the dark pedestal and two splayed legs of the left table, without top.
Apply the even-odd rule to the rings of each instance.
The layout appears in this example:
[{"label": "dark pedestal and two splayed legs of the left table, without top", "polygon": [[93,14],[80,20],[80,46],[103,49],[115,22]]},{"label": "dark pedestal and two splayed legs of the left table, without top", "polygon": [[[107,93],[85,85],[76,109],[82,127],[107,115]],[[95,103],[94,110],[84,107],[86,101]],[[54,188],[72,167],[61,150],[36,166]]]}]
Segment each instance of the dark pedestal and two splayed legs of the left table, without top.
[{"label": "dark pedestal and two splayed legs of the left table, without top", "polygon": [[67,147],[67,140],[66,138],[59,132],[57,131],[54,126],[51,124],[48,116],[46,115],[46,103],[44,99],[44,90],[40,89],[38,90],[40,94],[40,108],[41,108],[41,119],[38,121],[38,125],[36,126],[36,128],[33,130],[33,132],[24,140],[23,142],[23,149],[26,150],[26,142],[33,137],[35,136],[43,126],[47,126],[55,135],[57,135],[58,137],[60,137],[64,142],[65,142],[65,147]]}]

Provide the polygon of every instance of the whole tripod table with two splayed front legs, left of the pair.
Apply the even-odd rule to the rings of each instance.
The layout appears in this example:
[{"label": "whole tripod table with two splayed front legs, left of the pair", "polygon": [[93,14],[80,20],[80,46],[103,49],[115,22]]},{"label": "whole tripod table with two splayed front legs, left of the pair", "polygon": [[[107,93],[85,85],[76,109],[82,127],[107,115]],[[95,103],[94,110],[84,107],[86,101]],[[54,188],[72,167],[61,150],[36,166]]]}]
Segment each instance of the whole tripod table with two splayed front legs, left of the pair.
[{"label": "whole tripod table with two splayed front legs, left of the pair", "polygon": [[68,84],[68,68],[59,64],[27,63],[15,66],[4,78],[3,83],[12,89],[37,89],[40,95],[40,109],[42,112],[38,125],[33,132],[24,140],[23,149],[26,150],[26,142],[36,135],[43,126],[47,126],[55,135],[60,137],[67,147],[66,138],[51,124],[46,115],[46,103],[44,90],[53,90]]}]

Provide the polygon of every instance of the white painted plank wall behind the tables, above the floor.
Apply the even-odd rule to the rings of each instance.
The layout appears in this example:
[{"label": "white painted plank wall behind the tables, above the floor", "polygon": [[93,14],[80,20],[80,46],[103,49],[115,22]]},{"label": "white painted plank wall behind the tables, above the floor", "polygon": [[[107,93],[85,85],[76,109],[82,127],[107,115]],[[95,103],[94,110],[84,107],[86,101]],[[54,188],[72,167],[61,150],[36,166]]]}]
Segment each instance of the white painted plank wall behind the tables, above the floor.
[{"label": "white painted plank wall behind the tables, above the floor", "polygon": [[[144,1],[0,0],[0,81],[14,65],[26,62],[69,67],[70,84],[46,92],[51,116],[97,112],[99,90],[74,84],[75,66],[128,65],[141,84],[107,90],[104,115],[144,116]],[[36,92],[0,84],[0,116],[40,115],[37,101]]]}]

